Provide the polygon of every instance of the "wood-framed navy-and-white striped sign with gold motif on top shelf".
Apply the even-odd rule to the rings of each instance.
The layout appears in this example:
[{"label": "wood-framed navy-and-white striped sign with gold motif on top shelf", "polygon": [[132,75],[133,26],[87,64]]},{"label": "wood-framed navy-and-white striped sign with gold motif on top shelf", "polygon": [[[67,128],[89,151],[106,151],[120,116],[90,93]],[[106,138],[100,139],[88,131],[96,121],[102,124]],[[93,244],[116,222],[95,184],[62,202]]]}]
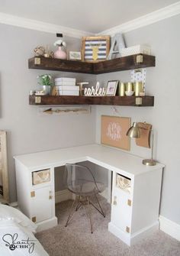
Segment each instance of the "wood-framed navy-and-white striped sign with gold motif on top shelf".
[{"label": "wood-framed navy-and-white striped sign with gold motif on top shelf", "polygon": [[107,60],[110,50],[110,36],[82,37],[82,60],[98,62]]}]

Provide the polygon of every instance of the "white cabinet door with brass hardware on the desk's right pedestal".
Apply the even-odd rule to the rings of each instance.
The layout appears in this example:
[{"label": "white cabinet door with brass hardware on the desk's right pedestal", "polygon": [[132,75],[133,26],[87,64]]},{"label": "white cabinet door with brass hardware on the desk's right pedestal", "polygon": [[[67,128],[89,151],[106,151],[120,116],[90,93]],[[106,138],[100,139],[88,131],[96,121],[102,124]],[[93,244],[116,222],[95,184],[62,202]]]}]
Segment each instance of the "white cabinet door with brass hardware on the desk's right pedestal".
[{"label": "white cabinet door with brass hardware on the desk's right pedestal", "polygon": [[128,193],[114,188],[111,205],[111,222],[122,231],[130,233],[132,201]]}]

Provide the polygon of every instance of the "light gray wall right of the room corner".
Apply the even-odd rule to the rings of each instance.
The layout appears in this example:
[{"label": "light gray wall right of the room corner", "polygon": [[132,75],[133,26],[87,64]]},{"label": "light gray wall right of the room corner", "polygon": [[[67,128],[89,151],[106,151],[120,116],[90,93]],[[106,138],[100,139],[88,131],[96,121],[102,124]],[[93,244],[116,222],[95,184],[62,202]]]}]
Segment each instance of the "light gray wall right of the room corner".
[{"label": "light gray wall right of the room corner", "polygon": [[[146,69],[146,94],[155,96],[154,107],[117,107],[118,114],[111,106],[98,106],[96,115],[96,141],[100,143],[101,115],[131,117],[131,122],[149,122],[156,132],[156,159],[166,164],[162,182],[160,214],[180,224],[180,15],[159,21],[144,28],[125,34],[127,46],[148,44],[156,55],[156,67]],[[130,80],[130,72],[98,75],[98,81],[106,84],[110,79]],[[149,149],[138,147],[131,139],[132,154],[150,157]],[[142,191],[143,193],[143,191]]]}]

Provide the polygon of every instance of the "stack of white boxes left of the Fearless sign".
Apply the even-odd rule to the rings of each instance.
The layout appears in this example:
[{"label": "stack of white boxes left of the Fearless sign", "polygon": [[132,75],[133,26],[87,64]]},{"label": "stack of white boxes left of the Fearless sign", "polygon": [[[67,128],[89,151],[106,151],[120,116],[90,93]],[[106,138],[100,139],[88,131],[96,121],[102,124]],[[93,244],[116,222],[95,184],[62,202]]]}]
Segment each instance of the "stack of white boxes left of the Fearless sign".
[{"label": "stack of white boxes left of the Fearless sign", "polygon": [[59,96],[79,96],[79,86],[76,86],[76,78],[58,77],[54,79],[54,83],[59,88]]}]

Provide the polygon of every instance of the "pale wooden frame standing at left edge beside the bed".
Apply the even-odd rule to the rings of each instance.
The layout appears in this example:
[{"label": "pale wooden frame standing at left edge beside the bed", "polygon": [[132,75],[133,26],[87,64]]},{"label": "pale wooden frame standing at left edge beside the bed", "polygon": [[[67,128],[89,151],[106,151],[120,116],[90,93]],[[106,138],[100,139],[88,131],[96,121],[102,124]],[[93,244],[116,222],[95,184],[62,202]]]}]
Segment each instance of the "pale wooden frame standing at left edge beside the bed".
[{"label": "pale wooden frame standing at left edge beside the bed", "polygon": [[0,131],[0,202],[9,202],[6,131]]}]

